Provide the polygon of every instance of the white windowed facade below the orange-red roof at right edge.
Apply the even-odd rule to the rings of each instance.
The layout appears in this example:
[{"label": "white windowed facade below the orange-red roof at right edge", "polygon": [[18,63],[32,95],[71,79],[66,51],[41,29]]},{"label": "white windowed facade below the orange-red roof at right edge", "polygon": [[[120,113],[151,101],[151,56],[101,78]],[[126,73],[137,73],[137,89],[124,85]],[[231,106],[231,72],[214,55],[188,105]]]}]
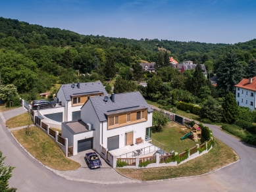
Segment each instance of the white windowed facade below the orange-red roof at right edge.
[{"label": "white windowed facade below the orange-red roof at right edge", "polygon": [[239,103],[239,106],[249,107],[251,110],[255,110],[255,91],[236,87],[236,101]]}]

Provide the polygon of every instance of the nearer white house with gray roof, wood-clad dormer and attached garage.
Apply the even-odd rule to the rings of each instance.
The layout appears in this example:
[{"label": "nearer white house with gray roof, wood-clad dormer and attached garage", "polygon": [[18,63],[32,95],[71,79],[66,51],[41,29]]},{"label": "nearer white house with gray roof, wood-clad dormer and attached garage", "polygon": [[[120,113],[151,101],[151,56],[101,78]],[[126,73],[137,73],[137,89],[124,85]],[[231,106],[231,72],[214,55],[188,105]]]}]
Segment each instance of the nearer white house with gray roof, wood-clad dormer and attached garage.
[{"label": "nearer white house with gray roof, wood-clad dormer and attached garage", "polygon": [[73,155],[88,149],[112,151],[145,140],[152,126],[153,110],[139,91],[90,97],[81,108],[81,121],[63,122],[62,137],[68,138]]}]

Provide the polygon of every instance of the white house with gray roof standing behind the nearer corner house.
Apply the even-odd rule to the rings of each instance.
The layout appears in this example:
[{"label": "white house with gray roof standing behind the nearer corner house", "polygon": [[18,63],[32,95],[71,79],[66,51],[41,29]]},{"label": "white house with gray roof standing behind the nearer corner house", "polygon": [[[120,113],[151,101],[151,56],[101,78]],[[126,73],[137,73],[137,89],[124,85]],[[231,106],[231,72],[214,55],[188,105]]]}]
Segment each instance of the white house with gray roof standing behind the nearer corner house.
[{"label": "white house with gray roof standing behind the nearer corner house", "polygon": [[[56,116],[63,116],[61,122],[80,119],[80,110],[89,97],[101,97],[107,95],[107,91],[101,82],[86,82],[77,84],[63,84],[57,93],[57,103],[64,107],[63,112],[47,114],[47,118],[55,120]],[[52,108],[51,111],[54,111]],[[57,109],[56,109],[57,110]],[[62,114],[63,113],[63,114]]]}]

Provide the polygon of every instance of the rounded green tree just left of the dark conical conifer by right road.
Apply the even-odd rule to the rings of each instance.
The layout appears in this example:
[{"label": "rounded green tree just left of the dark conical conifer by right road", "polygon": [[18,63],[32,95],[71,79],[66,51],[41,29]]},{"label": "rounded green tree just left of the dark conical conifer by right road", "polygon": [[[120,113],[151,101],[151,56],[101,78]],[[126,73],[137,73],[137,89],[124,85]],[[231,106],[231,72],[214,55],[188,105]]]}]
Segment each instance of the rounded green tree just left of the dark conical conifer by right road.
[{"label": "rounded green tree just left of the dark conical conifer by right road", "polygon": [[209,97],[199,110],[201,118],[208,118],[211,122],[220,122],[222,120],[222,108],[218,106],[218,102]]}]

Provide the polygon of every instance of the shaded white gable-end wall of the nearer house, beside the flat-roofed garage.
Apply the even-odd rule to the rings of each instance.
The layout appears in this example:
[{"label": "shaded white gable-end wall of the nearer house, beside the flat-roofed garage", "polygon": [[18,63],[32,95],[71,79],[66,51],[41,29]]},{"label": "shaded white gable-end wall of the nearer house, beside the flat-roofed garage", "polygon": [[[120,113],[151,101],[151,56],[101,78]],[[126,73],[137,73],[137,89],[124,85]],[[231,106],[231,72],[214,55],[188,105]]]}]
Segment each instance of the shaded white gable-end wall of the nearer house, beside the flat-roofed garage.
[{"label": "shaded white gable-end wall of the nearer house, beside the flat-roofed garage", "polygon": [[86,124],[91,124],[91,128],[95,130],[93,138],[93,148],[100,153],[101,152],[101,123],[99,118],[91,105],[91,101],[88,100],[84,107],[81,109],[81,120]]}]

